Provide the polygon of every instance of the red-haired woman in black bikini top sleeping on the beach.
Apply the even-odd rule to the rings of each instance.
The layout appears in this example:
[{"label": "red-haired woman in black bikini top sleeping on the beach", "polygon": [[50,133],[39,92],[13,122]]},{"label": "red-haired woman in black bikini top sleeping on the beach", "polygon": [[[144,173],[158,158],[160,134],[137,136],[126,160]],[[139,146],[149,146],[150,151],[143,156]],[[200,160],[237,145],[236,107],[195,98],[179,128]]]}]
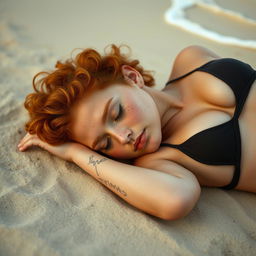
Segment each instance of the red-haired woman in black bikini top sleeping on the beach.
[{"label": "red-haired woman in black bikini top sleeping on the beach", "polygon": [[178,219],[200,185],[256,192],[255,78],[248,64],[190,46],[160,91],[120,47],[86,49],[34,77],[18,148],[39,146],[136,208]]}]

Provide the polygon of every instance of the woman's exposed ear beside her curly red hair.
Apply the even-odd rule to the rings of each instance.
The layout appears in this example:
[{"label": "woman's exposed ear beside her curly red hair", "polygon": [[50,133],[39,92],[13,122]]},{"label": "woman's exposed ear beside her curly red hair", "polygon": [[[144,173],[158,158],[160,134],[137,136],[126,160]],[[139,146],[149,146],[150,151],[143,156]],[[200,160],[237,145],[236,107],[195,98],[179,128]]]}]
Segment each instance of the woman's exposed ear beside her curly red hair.
[{"label": "woman's exposed ear beside her curly red hair", "polygon": [[145,86],[142,75],[136,69],[128,65],[123,65],[121,69],[124,79],[128,84],[138,86],[139,88]]}]

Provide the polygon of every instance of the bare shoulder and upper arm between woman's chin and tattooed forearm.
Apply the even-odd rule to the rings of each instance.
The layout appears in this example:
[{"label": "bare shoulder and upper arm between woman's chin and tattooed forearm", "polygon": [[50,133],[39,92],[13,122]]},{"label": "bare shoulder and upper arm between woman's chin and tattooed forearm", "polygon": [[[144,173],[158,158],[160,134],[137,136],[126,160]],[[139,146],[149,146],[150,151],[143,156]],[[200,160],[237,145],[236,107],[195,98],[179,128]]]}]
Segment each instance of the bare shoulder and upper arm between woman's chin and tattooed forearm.
[{"label": "bare shoulder and upper arm between woman's chin and tattooed forearm", "polygon": [[170,160],[172,158],[171,152],[172,151],[166,150],[165,148],[160,148],[154,153],[146,154],[137,158],[134,161],[134,165],[165,172],[178,178],[189,178],[193,182],[198,183],[194,174],[190,170],[184,168],[175,161]]}]

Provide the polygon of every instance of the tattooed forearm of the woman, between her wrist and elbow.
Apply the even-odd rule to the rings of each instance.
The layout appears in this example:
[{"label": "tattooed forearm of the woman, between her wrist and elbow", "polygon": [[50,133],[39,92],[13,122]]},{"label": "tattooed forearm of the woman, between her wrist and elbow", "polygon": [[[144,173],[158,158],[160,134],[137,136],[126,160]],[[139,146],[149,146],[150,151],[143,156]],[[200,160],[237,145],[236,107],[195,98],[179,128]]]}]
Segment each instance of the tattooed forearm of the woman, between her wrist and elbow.
[{"label": "tattooed forearm of the woman, between her wrist and elbow", "polygon": [[[166,218],[166,204],[172,192],[178,194],[182,182],[170,174],[120,163],[85,147],[74,152],[72,160],[131,205],[161,218]],[[171,199],[174,205],[175,193]]]}]

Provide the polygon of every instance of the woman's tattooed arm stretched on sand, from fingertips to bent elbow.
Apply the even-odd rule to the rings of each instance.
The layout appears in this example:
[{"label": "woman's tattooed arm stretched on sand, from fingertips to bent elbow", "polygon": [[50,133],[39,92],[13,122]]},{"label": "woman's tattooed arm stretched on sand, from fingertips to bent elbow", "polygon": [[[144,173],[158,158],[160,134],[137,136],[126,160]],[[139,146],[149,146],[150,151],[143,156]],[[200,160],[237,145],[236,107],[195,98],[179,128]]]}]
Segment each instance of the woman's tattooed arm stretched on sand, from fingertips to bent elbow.
[{"label": "woman's tattooed arm stretched on sand, from fingertips to bent elbow", "polygon": [[199,185],[193,178],[120,163],[77,143],[51,146],[35,135],[27,135],[19,149],[24,151],[33,145],[76,163],[131,205],[162,219],[185,216],[199,197]]}]

